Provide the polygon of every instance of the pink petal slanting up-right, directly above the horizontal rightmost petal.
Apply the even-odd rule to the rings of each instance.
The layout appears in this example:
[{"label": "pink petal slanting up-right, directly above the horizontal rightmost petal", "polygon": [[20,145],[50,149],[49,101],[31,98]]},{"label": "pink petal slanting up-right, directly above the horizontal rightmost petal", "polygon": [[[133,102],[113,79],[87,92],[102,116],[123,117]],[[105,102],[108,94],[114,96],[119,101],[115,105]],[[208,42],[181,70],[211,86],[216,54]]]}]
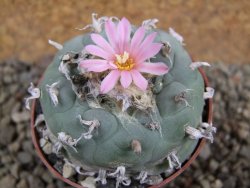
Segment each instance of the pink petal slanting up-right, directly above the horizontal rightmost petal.
[{"label": "pink petal slanting up-right, directly above the horizontal rightmost petal", "polygon": [[135,61],[137,63],[141,63],[145,61],[146,59],[149,59],[155,56],[161,50],[161,47],[162,47],[162,44],[160,43],[153,43],[153,44],[150,44],[149,46],[145,46],[137,54],[137,56],[135,57]]}]

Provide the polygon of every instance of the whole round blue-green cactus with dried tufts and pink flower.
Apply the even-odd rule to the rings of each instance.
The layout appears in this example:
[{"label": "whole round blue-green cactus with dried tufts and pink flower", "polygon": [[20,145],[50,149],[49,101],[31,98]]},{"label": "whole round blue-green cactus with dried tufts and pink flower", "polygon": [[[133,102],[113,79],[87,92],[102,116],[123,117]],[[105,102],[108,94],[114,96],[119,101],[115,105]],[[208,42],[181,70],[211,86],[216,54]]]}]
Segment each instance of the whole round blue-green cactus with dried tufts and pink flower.
[{"label": "whole round blue-green cactus with dried tufts and pink flower", "polygon": [[[45,120],[43,137],[52,143],[53,152],[62,155],[65,164],[77,173],[92,176],[102,184],[106,184],[109,177],[115,178],[117,187],[130,185],[131,180],[158,184],[163,180],[162,174],[168,176],[181,168],[199,138],[213,141],[216,129],[202,122],[204,101],[213,96],[213,89],[204,90],[204,81],[197,69],[209,64],[192,62],[183,48],[183,38],[172,28],[169,32],[156,29],[157,21],[146,20],[141,27],[130,27],[125,18],[96,19],[93,14],[93,24],[88,25],[91,33],[77,36],[64,45],[49,41],[59,51],[38,88],[32,85],[29,89],[30,98],[40,100],[43,115],[38,122]],[[98,51],[91,50],[98,45],[95,44],[98,41],[93,40],[102,36],[100,40],[106,42],[102,40],[99,46],[112,46],[108,26],[122,33],[113,33],[113,37],[128,36],[128,44],[141,29],[145,36],[137,39],[139,44],[151,40],[152,45],[158,45],[155,47],[158,50],[152,49],[155,54],[151,51],[145,60],[158,67],[152,66],[151,70],[140,73],[147,83],[138,83],[131,72],[131,78],[126,79],[132,79],[133,83],[126,79],[120,83],[122,75],[118,75],[106,83],[106,88],[102,85],[111,71],[128,72],[132,71],[132,65],[137,66],[136,62],[129,64],[131,49],[125,50],[123,46],[123,51],[117,47],[120,51],[113,57],[113,65],[116,65],[113,69],[106,65],[92,67],[92,60],[105,60],[102,54],[98,56]],[[131,28],[128,35],[126,28]],[[119,43],[119,39],[117,41]],[[107,48],[101,48],[100,53],[108,51]],[[105,62],[112,66],[112,62]],[[146,88],[141,84],[146,84]]]}]

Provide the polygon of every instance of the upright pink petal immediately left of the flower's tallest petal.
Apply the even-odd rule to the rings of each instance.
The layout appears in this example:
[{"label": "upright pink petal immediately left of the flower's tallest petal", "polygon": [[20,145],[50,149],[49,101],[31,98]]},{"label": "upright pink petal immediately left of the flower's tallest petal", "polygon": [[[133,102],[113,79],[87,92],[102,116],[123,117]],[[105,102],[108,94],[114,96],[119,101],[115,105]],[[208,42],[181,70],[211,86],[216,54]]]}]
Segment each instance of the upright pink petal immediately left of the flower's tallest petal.
[{"label": "upright pink petal immediately left of the flower's tallest petal", "polygon": [[[111,44],[111,46],[113,47],[113,49],[117,49],[117,33],[116,33],[116,26],[114,24],[114,22],[112,22],[110,19],[108,21],[106,21],[105,23],[105,31],[106,31],[106,35],[108,37],[109,43]],[[117,51],[116,51],[117,53]]]}]

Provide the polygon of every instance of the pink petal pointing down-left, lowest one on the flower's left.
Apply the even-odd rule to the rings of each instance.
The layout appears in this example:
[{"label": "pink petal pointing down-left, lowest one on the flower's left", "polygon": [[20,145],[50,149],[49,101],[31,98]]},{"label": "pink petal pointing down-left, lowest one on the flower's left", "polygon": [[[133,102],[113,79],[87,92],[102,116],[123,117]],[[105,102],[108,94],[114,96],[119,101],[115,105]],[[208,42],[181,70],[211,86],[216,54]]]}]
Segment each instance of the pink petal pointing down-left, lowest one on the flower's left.
[{"label": "pink petal pointing down-left, lowest one on the flower's left", "polygon": [[102,81],[101,83],[101,93],[108,93],[115,84],[117,83],[120,77],[120,71],[112,70]]}]

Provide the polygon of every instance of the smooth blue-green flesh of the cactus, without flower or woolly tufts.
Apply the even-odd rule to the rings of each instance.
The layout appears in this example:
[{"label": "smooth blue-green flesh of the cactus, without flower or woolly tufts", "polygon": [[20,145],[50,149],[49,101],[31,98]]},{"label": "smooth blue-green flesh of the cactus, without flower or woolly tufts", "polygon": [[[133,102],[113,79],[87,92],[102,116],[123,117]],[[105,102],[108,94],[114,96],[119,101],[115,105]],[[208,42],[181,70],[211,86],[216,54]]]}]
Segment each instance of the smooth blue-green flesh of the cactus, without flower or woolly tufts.
[{"label": "smooth blue-green flesh of the cactus, without flower or woolly tufts", "polygon": [[[65,132],[72,138],[79,138],[88,131],[78,115],[84,120],[97,119],[100,126],[93,132],[91,139],[81,139],[75,148],[64,145],[69,159],[91,171],[115,169],[125,166],[133,172],[147,171],[159,174],[169,167],[167,156],[177,151],[180,162],[189,158],[197,145],[185,134],[185,126],[198,127],[204,106],[204,82],[198,70],[190,69],[192,60],[179,41],[166,32],[158,32],[157,42],[169,42],[171,52],[168,57],[159,52],[151,62],[164,62],[170,70],[156,80],[158,90],[154,94],[160,121],[160,130],[151,130],[145,123],[147,115],[135,111],[131,119],[120,119],[117,113],[102,108],[92,108],[83,99],[79,99],[72,90],[72,84],[58,71],[62,56],[68,52],[81,52],[84,46],[93,43],[90,35],[82,35],[66,42],[55,56],[40,83],[40,102],[50,132],[57,137]],[[103,34],[104,35],[104,34]],[[171,60],[171,61],[170,61]],[[54,105],[46,90],[46,85],[59,81],[58,105]],[[178,101],[177,96],[186,92],[188,105]],[[122,116],[121,116],[122,117]],[[144,122],[144,123],[142,123]],[[141,152],[131,148],[132,140],[141,144]]]}]

